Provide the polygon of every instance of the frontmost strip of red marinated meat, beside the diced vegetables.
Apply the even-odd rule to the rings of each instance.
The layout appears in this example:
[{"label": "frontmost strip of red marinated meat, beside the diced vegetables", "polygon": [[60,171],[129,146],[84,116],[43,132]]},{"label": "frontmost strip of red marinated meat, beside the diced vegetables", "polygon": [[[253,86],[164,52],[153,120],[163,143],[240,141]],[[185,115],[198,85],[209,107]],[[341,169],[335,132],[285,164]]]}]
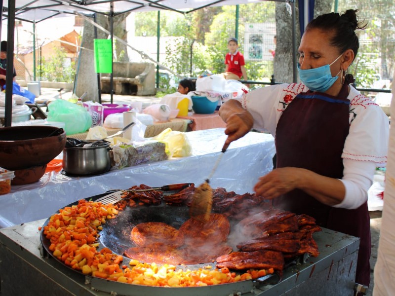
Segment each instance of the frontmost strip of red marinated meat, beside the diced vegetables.
[{"label": "frontmost strip of red marinated meat, beside the diced vegetables", "polygon": [[255,251],[255,252],[233,252],[216,259],[217,267],[228,267],[230,269],[269,269],[282,270],[284,268],[284,257],[281,252]]}]

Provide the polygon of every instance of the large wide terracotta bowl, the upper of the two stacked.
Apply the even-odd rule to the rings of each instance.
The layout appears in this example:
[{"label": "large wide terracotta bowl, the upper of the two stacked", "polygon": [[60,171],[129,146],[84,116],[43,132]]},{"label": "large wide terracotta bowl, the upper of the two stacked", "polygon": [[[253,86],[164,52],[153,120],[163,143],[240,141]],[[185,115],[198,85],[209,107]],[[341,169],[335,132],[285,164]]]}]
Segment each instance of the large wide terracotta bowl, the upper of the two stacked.
[{"label": "large wide terracotta bowl, the upper of the two stacked", "polygon": [[[51,133],[55,135],[49,136]],[[45,168],[42,170],[37,167],[46,167],[65,145],[66,132],[58,127],[38,125],[0,128],[0,167],[11,171],[35,168],[34,175],[37,178],[39,171],[43,171],[42,175],[45,173]],[[18,182],[15,179],[13,183]]]}]

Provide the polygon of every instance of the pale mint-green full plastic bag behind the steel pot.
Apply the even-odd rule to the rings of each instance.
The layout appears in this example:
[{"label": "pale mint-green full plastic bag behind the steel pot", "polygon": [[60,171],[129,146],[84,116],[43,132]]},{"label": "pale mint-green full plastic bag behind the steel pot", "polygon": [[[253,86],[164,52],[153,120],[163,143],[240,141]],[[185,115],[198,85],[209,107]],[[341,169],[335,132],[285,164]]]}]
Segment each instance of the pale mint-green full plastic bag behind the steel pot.
[{"label": "pale mint-green full plastic bag behind the steel pot", "polygon": [[48,104],[47,120],[64,122],[66,135],[86,132],[92,125],[92,117],[85,108],[62,99]]}]

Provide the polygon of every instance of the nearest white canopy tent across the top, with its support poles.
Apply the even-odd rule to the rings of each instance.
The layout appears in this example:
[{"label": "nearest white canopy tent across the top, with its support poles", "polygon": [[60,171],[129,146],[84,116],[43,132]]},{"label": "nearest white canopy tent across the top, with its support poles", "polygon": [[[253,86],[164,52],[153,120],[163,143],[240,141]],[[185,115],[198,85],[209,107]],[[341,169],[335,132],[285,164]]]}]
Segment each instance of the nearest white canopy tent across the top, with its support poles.
[{"label": "nearest white canopy tent across the top, with its support poles", "polygon": [[[100,13],[113,17],[126,12],[171,10],[182,14],[193,12],[207,6],[223,6],[257,3],[273,0],[2,0],[2,21],[8,22],[8,67],[6,76],[12,76],[14,25],[16,20],[38,23],[51,17],[61,17],[70,14],[92,16]],[[295,0],[275,0],[288,2],[292,8],[292,37],[294,80],[296,79],[296,40],[295,40]],[[6,81],[6,88],[12,88],[12,80]],[[4,126],[11,126],[12,94],[6,93]]]}]

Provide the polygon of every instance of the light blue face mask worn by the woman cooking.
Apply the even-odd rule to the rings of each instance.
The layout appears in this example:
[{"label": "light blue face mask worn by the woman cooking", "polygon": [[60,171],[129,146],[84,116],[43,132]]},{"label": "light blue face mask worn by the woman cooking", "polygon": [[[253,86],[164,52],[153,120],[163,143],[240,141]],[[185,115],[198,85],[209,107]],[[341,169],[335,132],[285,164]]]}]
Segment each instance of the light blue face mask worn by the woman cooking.
[{"label": "light blue face mask worn by the woman cooking", "polygon": [[330,65],[321,66],[315,69],[300,69],[300,64],[298,63],[298,72],[300,80],[302,80],[303,84],[306,85],[312,91],[324,92],[329,87],[335,83],[337,75],[341,72],[339,71],[335,77],[332,77],[330,73],[330,66],[336,62],[343,54],[341,54],[336,60],[334,60]]}]

